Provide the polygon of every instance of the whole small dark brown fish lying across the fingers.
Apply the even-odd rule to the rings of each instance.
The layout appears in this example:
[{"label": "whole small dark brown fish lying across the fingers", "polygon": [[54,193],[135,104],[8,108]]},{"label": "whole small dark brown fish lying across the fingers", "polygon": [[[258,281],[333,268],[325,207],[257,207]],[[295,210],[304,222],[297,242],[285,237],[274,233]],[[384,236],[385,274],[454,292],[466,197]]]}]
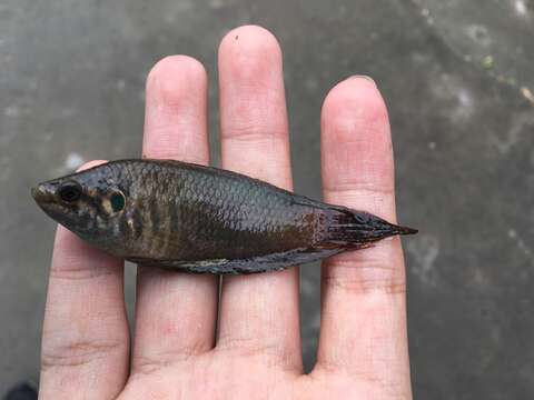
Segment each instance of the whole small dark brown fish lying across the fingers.
[{"label": "whole small dark brown fish lying across the fingers", "polygon": [[417,230],[224,169],[125,159],[37,184],[53,220],[138,264],[239,274],[283,270]]}]

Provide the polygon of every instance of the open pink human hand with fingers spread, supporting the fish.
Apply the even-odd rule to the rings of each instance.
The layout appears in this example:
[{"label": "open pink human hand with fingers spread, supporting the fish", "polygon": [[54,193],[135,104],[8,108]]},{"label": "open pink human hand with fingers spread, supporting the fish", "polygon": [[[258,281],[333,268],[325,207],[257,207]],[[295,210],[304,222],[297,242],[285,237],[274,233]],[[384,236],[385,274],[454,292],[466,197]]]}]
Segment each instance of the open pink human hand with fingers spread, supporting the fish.
[{"label": "open pink human hand with fingers spread, supporting the fish", "polygon": [[[222,39],[219,89],[222,168],[291,189],[281,52],[270,32],[248,26]],[[198,61],[159,61],[146,107],[145,156],[208,163]],[[326,97],[322,166],[327,202],[395,222],[389,126],[374,82],[350,78]],[[122,277],[119,260],[58,228],[41,399],[412,398],[398,238],[324,264],[317,364],[307,374],[296,268],[224,278],[220,297],[216,277],[139,268],[131,341]]]}]

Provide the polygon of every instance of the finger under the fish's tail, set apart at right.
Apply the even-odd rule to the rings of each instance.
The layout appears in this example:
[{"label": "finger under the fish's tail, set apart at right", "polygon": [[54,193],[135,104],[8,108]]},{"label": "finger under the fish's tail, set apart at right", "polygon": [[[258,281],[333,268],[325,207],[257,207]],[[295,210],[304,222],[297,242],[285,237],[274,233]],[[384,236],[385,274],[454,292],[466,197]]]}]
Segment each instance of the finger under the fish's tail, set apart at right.
[{"label": "finger under the fish's tail, set apart at right", "polygon": [[[326,201],[395,222],[389,123],[370,80],[348,79],[327,96],[322,158]],[[326,262],[317,370],[348,370],[409,393],[405,288],[398,237]]]}]

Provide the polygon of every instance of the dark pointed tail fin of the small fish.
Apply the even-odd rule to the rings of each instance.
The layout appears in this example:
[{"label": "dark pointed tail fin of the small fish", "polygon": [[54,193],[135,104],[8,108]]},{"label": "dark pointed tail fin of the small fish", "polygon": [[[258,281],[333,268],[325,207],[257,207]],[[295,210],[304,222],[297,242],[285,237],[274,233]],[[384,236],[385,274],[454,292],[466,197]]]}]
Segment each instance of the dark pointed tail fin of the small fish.
[{"label": "dark pointed tail fin of the small fish", "polygon": [[327,242],[359,247],[396,234],[415,234],[417,229],[400,227],[372,213],[333,208],[326,234]]}]

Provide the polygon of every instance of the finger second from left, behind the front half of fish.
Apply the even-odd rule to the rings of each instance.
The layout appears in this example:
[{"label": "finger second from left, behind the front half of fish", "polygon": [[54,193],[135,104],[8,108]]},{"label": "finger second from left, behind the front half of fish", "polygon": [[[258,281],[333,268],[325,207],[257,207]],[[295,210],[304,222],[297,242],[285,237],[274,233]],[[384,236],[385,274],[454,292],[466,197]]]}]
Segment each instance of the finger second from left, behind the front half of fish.
[{"label": "finger second from left, behind the front half of fish", "polygon": [[[159,61],[147,80],[144,156],[208,163],[207,76],[189,57]],[[132,371],[214,346],[218,281],[139,267]]]}]

